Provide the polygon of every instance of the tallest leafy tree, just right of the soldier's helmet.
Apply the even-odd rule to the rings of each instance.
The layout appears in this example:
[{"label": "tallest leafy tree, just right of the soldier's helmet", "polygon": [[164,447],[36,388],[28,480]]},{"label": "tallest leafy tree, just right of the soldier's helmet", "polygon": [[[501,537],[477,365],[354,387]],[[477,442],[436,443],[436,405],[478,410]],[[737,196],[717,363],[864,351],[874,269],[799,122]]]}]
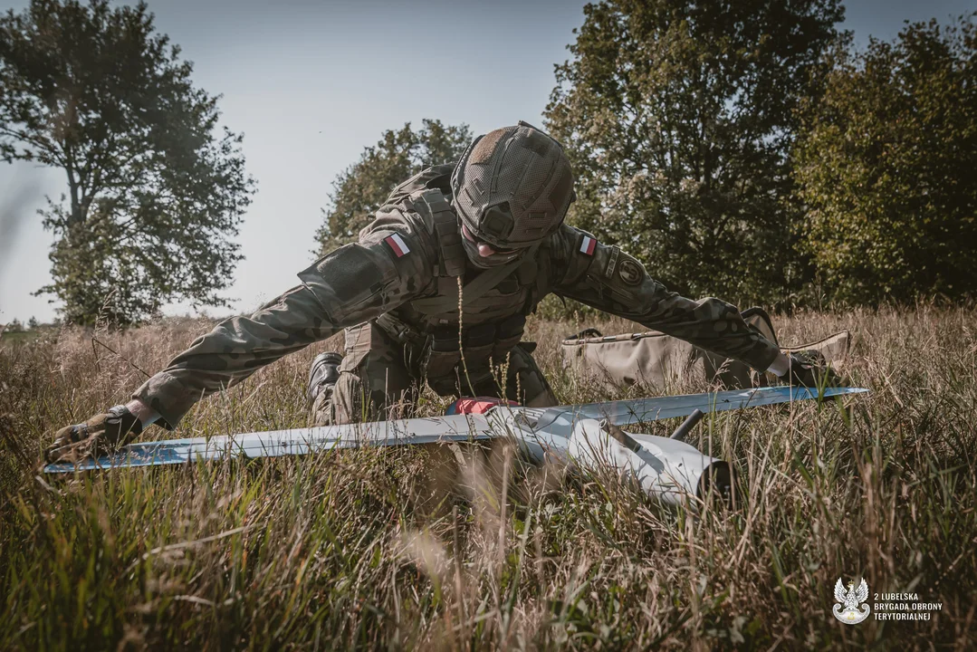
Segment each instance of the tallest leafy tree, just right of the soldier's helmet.
[{"label": "tallest leafy tree, just right of the soldier's helmet", "polygon": [[817,95],[838,0],[604,0],[546,109],[577,175],[573,224],[692,295],[783,298],[794,109]]}]

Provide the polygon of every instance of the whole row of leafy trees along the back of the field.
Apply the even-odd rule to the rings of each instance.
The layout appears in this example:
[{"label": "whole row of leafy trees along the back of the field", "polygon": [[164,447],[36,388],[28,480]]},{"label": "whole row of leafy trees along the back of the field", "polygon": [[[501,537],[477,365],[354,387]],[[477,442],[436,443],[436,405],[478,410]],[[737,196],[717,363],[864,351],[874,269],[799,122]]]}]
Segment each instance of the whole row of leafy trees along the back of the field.
[{"label": "whole row of leafy trees along the back of the field", "polygon": [[[586,5],[542,125],[577,177],[568,221],[692,296],[971,297],[977,14],[864,47],[843,17],[839,0]],[[71,321],[223,301],[254,183],[190,74],[145,4],[33,0],[0,19],[0,155],[67,175],[42,291]],[[436,118],[384,132],[334,181],[320,250],[472,136]]]}]

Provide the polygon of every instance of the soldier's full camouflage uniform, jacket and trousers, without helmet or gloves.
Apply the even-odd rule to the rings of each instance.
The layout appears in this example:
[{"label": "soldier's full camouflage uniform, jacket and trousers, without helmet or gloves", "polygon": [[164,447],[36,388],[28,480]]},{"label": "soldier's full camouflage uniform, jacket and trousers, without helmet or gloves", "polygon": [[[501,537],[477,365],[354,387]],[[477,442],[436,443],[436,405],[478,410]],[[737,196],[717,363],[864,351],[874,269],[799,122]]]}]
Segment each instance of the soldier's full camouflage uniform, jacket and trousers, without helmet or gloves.
[{"label": "soldier's full camouflage uniform, jacket and trousers, without helmet or gloves", "polygon": [[[465,289],[489,271],[474,267],[462,248],[448,203],[451,169],[429,168],[406,181],[359,242],[319,259],[298,275],[301,285],[250,317],[226,320],[196,339],[135,397],[169,427],[204,396],[345,328],[346,357],[331,397],[319,396],[320,421],[403,413],[423,380],[443,396],[504,394],[524,405],[553,405],[531,348],[520,345],[526,317],[550,292],[756,369],[767,369],[779,354],[736,307],[669,292],[618,247],[566,224],[529,248],[498,283],[471,289],[466,299]],[[498,364],[506,361],[503,377]]]}]

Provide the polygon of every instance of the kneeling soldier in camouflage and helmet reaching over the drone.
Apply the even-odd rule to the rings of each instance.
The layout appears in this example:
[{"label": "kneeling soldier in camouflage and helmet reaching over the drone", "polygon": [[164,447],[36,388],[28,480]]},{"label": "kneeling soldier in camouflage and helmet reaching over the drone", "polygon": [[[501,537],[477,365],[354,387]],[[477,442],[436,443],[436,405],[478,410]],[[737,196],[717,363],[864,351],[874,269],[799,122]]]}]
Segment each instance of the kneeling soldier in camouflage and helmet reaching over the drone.
[{"label": "kneeling soldier in camouflage and helmet reaching over the drone", "polygon": [[573,172],[561,146],[520,122],[475,141],[456,165],[399,186],[360,239],[301,272],[250,317],[197,338],[124,406],[64,427],[49,459],[118,444],[149,423],[172,428],[191,406],[256,369],[346,329],[345,356],[309,378],[319,423],[403,416],[423,381],[442,396],[557,403],[522,343],[550,292],[812,385],[823,370],[748,328],[734,306],[670,292],[618,247],[564,224]]}]

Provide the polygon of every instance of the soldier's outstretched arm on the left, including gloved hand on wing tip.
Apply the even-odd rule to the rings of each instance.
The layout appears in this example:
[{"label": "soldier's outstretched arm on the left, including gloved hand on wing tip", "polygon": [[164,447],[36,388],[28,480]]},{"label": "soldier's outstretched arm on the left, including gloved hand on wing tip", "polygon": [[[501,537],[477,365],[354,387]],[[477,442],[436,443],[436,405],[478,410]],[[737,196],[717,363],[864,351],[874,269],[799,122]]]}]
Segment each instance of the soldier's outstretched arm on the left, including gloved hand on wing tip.
[{"label": "soldier's outstretched arm on the left, including gloved hand on wing tip", "polygon": [[[193,341],[147,380],[127,406],[67,426],[49,447],[49,459],[82,456],[115,445],[158,420],[170,428],[192,405],[241,382],[282,356],[393,310],[417,296],[432,275],[427,242],[409,229],[365,234],[301,272],[293,287],[248,317],[233,317]],[[73,455],[72,455],[73,456]]]}]

